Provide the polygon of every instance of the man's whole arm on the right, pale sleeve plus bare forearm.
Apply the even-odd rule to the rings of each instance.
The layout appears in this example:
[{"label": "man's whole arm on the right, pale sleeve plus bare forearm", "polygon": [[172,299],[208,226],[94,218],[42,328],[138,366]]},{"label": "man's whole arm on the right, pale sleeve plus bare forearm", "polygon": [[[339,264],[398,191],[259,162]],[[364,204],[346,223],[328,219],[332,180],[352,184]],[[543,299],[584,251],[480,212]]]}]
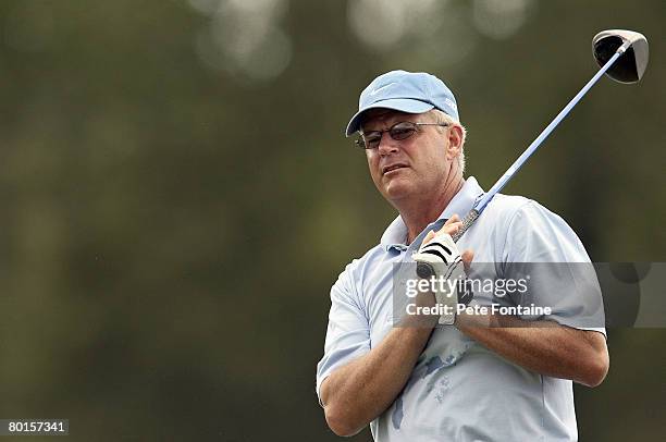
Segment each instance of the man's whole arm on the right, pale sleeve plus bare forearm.
[{"label": "man's whole arm on the right, pale sleeve plus bare forearm", "polygon": [[[590,259],[582,243],[562,218],[533,201],[520,207],[506,229],[499,235],[506,242],[497,245],[504,254],[497,261],[507,263],[508,274],[520,263],[530,263],[531,272],[541,270],[539,281],[545,283],[532,285],[522,304],[554,306],[553,315],[541,321],[461,315],[458,329],[529,370],[599,385],[608,371],[605,336],[576,328],[604,326],[601,290],[591,267],[583,267]],[[545,268],[535,262],[570,262],[571,267]]]}]

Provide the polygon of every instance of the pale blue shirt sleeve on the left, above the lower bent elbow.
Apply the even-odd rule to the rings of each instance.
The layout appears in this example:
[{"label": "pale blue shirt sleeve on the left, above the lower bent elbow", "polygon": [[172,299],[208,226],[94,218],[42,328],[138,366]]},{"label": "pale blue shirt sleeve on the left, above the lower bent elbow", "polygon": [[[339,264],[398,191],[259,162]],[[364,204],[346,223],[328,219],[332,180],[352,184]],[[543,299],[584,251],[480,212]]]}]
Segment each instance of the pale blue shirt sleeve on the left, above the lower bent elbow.
[{"label": "pale blue shirt sleeve on the left, above the lower bent elbow", "polygon": [[324,355],[317,365],[317,396],[321,402],[321,383],[338,367],[370,352],[370,326],[363,303],[354,286],[347,266],[331,287],[331,311]]}]

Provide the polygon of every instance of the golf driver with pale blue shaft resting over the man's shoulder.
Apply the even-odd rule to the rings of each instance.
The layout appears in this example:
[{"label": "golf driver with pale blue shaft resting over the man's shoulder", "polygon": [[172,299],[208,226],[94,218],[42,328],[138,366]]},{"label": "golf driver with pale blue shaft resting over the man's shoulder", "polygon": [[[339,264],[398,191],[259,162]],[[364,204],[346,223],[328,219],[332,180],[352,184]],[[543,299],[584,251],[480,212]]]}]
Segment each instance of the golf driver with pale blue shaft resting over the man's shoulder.
[{"label": "golf driver with pale blue shaft resting over the man's shoulder", "polygon": [[[499,180],[491,187],[488,193],[477,202],[477,205],[462,219],[462,226],[453,235],[457,242],[462,234],[474,223],[477,218],[483,212],[493,197],[502,191],[509,180],[518,172],[525,162],[541,146],[544,139],[567,116],[580,99],[590,90],[592,86],[606,74],[619,83],[638,83],[645,67],[648,66],[649,50],[648,39],[644,35],[633,30],[608,29],[596,34],[592,39],[592,52],[601,70],[583,86],[582,89],[569,101],[569,103],[555,116],[555,119],[543,130],[543,132],[532,142],[520,157],[508,168]],[[418,271],[418,269],[417,269]]]}]

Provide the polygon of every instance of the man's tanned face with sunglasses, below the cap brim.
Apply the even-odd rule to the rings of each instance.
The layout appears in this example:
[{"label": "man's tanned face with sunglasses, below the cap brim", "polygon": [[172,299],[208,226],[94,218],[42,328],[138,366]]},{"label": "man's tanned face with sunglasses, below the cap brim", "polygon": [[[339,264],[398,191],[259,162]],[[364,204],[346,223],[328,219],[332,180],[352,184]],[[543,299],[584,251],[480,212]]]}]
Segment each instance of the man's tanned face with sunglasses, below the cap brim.
[{"label": "man's tanned face with sunglasses, below the cap brim", "polygon": [[[396,123],[434,123],[430,114],[387,110],[369,112],[363,133],[390,128]],[[411,137],[395,140],[382,134],[379,147],[366,149],[370,175],[379,192],[391,202],[405,198],[428,198],[440,193],[451,174],[459,173],[457,155],[459,127],[419,126]]]}]

